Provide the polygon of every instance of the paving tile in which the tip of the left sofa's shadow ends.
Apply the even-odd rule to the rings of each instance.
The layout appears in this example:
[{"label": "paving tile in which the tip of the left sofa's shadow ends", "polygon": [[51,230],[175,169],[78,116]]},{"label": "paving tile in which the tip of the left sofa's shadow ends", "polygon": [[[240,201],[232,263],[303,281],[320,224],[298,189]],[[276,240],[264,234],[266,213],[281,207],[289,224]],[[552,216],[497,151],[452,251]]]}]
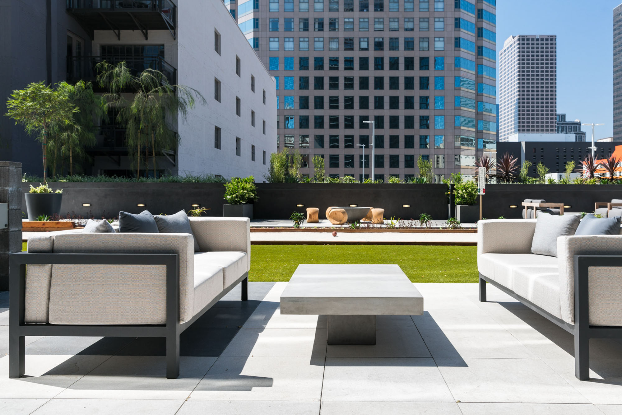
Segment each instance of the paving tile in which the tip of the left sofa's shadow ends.
[{"label": "paving tile in which the tip of the left sofa's shadow ends", "polygon": [[323,358],[220,357],[192,399],[319,401]]}]

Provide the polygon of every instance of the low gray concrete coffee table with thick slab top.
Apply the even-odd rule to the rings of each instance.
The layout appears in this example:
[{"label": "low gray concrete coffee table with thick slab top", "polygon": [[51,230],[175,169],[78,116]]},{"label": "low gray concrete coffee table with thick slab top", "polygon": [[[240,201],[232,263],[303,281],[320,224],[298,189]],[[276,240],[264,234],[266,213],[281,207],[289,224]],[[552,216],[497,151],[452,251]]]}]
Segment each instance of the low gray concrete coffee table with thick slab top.
[{"label": "low gray concrete coffee table with thick slab top", "polygon": [[328,315],[329,345],[374,345],[376,315],[422,315],[424,298],[397,265],[300,264],[281,314]]}]

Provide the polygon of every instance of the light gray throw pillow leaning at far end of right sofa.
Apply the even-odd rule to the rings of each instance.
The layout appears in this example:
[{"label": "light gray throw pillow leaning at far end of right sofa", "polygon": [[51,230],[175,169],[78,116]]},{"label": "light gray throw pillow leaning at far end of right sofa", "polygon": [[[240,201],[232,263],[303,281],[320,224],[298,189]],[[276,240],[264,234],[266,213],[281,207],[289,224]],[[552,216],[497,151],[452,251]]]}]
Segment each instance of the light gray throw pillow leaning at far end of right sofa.
[{"label": "light gray throw pillow leaning at far end of right sofa", "polygon": [[536,221],[536,231],[531,242],[531,253],[557,256],[557,238],[575,235],[581,217],[578,215],[550,215],[540,212]]}]

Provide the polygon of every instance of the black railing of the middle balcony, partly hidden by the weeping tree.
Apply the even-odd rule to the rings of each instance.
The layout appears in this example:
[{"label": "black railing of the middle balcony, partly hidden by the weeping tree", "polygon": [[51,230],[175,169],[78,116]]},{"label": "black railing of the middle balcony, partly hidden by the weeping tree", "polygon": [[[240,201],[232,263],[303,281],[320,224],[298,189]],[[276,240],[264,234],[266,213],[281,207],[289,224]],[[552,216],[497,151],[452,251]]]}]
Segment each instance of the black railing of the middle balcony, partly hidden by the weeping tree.
[{"label": "black railing of the middle balcony, partly hidden by the weeping tree", "polygon": [[95,84],[96,88],[99,87],[96,83],[97,70],[95,66],[97,63],[106,60],[113,65],[119,62],[126,62],[132,75],[137,75],[146,69],[155,69],[164,73],[171,85],[174,85],[177,80],[177,69],[166,62],[162,57],[141,57],[141,58],[122,58],[122,57],[80,57],[72,58],[67,62],[67,82],[78,82],[80,80],[90,81]]}]

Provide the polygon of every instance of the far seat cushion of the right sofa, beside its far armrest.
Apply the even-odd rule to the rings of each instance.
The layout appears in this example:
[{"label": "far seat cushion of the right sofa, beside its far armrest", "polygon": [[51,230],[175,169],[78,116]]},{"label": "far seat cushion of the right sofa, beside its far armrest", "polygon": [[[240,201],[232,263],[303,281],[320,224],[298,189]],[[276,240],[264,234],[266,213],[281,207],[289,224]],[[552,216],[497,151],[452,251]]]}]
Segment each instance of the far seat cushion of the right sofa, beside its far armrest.
[{"label": "far seat cushion of the right sofa, beside its far armrest", "polygon": [[557,258],[536,254],[481,254],[477,261],[480,273],[514,290],[513,277],[517,268],[552,268],[557,271]]}]

